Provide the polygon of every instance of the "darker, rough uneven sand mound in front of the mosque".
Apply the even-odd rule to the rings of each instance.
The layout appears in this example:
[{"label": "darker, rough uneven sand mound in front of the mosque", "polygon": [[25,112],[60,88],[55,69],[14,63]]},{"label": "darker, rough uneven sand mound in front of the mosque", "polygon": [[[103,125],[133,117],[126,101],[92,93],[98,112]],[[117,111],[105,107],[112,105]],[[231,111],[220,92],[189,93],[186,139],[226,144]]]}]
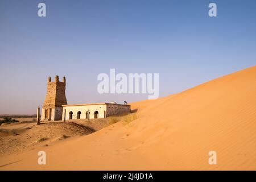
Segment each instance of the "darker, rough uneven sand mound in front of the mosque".
[{"label": "darker, rough uneven sand mound in front of the mosque", "polygon": [[51,146],[63,139],[91,134],[111,125],[111,118],[44,121],[41,125],[37,125],[34,118],[15,118],[19,122],[0,126],[0,156],[20,154],[36,147]]}]

